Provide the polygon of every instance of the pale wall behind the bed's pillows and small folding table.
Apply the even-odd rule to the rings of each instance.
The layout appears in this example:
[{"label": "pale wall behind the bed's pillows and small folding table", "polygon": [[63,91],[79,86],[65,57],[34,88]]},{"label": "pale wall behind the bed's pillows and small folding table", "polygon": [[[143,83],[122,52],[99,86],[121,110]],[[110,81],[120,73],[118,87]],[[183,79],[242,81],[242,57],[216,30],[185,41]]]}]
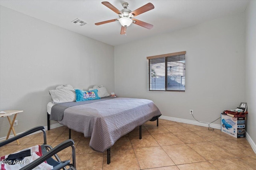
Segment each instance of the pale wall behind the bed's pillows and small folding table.
[{"label": "pale wall behind the bed's pillows and small folding table", "polygon": [[[103,84],[114,91],[113,46],[3,6],[0,23],[0,110],[24,110],[16,118],[17,133],[47,125],[48,91],[60,84]],[[1,118],[0,137],[9,127]]]}]

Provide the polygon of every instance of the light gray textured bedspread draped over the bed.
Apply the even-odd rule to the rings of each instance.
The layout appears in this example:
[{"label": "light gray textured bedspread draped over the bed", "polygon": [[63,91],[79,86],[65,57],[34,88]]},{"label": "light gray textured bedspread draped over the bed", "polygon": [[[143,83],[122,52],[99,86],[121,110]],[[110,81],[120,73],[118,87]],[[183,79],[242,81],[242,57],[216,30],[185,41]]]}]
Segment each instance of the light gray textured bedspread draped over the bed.
[{"label": "light gray textured bedspread draped over the bed", "polygon": [[135,127],[160,115],[151,100],[114,98],[68,107],[59,123],[91,137],[90,147],[104,152]]}]

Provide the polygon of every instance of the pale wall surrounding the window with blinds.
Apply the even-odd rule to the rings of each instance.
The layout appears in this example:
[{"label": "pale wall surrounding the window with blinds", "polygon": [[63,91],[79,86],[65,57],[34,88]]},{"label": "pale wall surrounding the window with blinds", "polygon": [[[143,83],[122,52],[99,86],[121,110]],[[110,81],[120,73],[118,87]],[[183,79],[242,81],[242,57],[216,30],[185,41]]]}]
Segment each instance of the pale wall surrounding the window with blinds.
[{"label": "pale wall surrounding the window with blinds", "polygon": [[[153,100],[164,116],[194,120],[193,109],[199,121],[214,121],[244,102],[244,20],[245,14],[229,16],[115,46],[115,93]],[[186,51],[186,92],[148,91],[146,57],[180,51]]]}]

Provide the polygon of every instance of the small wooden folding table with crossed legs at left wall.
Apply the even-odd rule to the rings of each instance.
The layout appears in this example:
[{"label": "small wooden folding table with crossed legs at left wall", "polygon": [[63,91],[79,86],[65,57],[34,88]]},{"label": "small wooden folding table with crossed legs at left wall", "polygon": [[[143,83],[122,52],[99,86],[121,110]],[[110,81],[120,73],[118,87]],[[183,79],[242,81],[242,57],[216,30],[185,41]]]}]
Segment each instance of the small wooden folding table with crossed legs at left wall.
[{"label": "small wooden folding table with crossed legs at left wall", "polygon": [[[15,130],[13,128],[13,124],[14,124],[14,121],[16,119],[17,114],[23,112],[23,110],[4,110],[4,112],[5,113],[0,113],[0,117],[7,117],[8,121],[10,123],[10,129],[9,129],[8,134],[6,136],[6,140],[7,140],[9,138],[9,136],[10,136],[11,131],[13,132],[14,136],[16,136],[16,132],[15,132]],[[9,117],[11,115],[14,115],[12,121],[11,121],[11,119]],[[20,145],[19,140],[16,140],[16,141],[17,141],[18,145]]]}]

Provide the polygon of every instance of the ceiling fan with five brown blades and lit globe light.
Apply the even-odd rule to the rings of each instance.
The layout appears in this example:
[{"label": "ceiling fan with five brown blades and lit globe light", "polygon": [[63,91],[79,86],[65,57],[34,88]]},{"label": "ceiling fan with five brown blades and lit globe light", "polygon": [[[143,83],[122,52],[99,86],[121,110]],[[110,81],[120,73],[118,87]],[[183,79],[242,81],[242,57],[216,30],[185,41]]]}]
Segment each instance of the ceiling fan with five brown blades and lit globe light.
[{"label": "ceiling fan with five brown blades and lit globe light", "polygon": [[151,29],[154,25],[151,25],[149,23],[140,21],[140,20],[136,20],[135,16],[138,16],[144,12],[153,10],[155,7],[153,4],[148,3],[140,8],[138,8],[137,10],[131,11],[128,10],[128,6],[129,4],[127,2],[124,2],[122,4],[122,6],[124,7],[124,9],[122,9],[121,11],[118,10],[116,7],[114,7],[112,4],[110,4],[109,2],[101,2],[103,5],[105,5],[106,7],[108,7],[110,10],[114,11],[116,14],[118,14],[119,18],[118,19],[113,19],[113,20],[108,20],[108,21],[102,21],[102,22],[98,22],[95,23],[95,25],[102,25],[104,23],[110,23],[110,22],[114,22],[114,21],[119,21],[120,24],[122,25],[121,27],[121,32],[120,34],[126,34],[126,28],[128,26],[130,26],[132,23],[135,23],[136,25],[140,25],[144,28],[147,29]]}]

